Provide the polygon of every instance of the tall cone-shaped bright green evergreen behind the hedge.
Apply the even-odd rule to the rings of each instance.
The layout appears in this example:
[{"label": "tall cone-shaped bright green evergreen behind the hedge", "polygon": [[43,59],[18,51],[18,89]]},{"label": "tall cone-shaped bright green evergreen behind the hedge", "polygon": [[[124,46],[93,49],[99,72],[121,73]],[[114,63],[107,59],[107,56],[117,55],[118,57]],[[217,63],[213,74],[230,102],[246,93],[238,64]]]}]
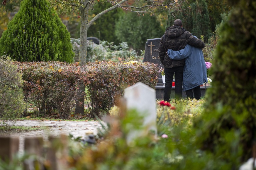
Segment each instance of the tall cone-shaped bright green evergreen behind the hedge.
[{"label": "tall cone-shaped bright green evergreen behind the hedge", "polygon": [[24,0],[0,39],[0,54],[17,61],[73,62],[70,34],[46,0]]}]

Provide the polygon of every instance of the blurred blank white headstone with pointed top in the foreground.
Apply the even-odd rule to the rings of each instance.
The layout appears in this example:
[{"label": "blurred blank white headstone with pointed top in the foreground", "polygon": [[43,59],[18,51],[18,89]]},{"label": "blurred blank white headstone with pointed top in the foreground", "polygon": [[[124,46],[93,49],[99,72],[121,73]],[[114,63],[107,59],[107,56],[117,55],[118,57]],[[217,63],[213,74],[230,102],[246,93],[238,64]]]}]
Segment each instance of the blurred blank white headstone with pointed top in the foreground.
[{"label": "blurred blank white headstone with pointed top in the foreground", "polygon": [[127,110],[136,109],[144,117],[143,130],[131,130],[127,135],[127,142],[131,143],[133,139],[147,135],[150,130],[157,136],[155,90],[138,82],[124,90],[124,98]]}]

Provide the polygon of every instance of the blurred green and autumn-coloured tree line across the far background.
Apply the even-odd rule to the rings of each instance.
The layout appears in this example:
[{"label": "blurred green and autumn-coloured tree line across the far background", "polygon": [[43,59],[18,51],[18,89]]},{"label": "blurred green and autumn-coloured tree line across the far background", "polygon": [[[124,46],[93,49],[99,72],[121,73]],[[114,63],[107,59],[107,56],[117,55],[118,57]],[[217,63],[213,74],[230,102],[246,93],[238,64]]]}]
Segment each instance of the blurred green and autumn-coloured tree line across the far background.
[{"label": "blurred green and autumn-coloured tree line across the far background", "polygon": [[[21,0],[10,0],[6,5],[0,4],[0,37],[7,29],[8,22],[19,10]],[[94,10],[89,13],[89,19],[111,6],[109,3],[97,2]],[[183,21],[183,27],[193,35],[204,35],[205,41],[213,35],[215,27],[220,24],[221,14],[228,13],[231,7],[227,0],[189,0],[179,7],[181,11],[168,14],[167,11],[156,11],[139,15],[123,9],[112,10],[96,20],[88,30],[88,37],[98,37],[100,40],[114,42],[122,41],[136,51],[145,49],[147,39],[161,37],[165,29],[177,18]],[[186,10],[184,10],[186,9]],[[59,14],[72,38],[79,38],[79,14]]]}]

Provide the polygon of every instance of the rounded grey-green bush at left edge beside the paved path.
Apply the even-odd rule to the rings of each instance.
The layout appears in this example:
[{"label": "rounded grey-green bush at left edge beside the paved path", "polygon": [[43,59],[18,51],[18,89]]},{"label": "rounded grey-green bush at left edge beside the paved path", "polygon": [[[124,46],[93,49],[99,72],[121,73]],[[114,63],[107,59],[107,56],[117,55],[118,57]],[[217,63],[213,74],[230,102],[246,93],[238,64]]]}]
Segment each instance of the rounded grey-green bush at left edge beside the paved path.
[{"label": "rounded grey-green bush at left edge beside the paved path", "polygon": [[[9,58],[0,57],[0,119],[14,121],[24,107],[21,74]],[[1,122],[0,122],[1,124]]]}]

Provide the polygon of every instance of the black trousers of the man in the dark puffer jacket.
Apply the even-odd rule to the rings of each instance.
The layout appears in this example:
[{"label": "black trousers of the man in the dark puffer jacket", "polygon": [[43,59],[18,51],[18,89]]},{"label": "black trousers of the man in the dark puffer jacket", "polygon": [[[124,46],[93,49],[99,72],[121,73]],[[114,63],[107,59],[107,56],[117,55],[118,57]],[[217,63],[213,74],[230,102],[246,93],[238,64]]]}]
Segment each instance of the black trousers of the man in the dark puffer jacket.
[{"label": "black trousers of the man in the dark puffer jacket", "polygon": [[175,99],[181,99],[182,97],[182,80],[183,80],[183,68],[184,66],[165,68],[165,95],[164,100],[170,101],[170,95],[172,90],[173,74],[175,79]]}]

